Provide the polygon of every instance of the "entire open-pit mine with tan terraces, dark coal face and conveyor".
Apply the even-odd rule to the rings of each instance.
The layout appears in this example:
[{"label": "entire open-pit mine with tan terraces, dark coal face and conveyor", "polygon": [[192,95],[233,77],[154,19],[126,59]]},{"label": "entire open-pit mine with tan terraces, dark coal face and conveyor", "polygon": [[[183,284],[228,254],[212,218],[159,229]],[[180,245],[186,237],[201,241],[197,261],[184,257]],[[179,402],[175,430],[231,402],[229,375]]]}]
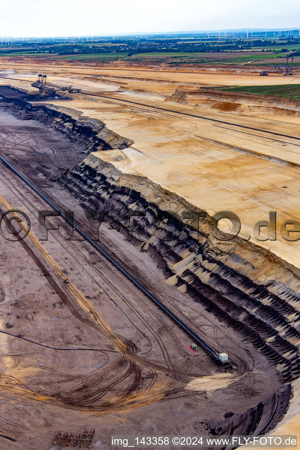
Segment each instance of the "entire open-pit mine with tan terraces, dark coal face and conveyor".
[{"label": "entire open-pit mine with tan terraces, dark coal face and conveyor", "polygon": [[131,64],[1,59],[0,449],[296,434],[300,72]]}]

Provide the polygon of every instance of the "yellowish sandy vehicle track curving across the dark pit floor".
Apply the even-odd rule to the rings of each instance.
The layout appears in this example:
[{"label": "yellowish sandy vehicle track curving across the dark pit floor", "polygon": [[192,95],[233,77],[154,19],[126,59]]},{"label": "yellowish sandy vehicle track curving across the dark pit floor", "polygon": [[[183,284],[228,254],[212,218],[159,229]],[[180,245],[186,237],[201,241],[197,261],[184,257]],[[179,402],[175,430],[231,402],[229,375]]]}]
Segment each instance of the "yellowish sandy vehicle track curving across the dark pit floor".
[{"label": "yellowish sandy vehicle track curving across the dark pit floor", "polygon": [[[5,201],[5,199],[2,197],[2,195],[0,195],[0,202],[7,210],[11,209],[9,203]],[[3,210],[1,210],[0,212],[3,213]],[[18,217],[15,213],[11,213],[11,215],[16,220],[18,220]],[[20,222],[19,225],[22,228],[22,230],[25,233],[27,233],[27,226],[24,225],[22,222]],[[58,264],[53,260],[53,258],[50,257],[49,254],[45,251],[44,247],[41,246],[39,241],[37,241],[36,237],[31,232],[29,232],[27,236],[30,238],[31,242],[34,244],[34,246],[37,248],[37,250],[39,250],[42,253],[42,256],[45,259],[45,261],[49,262],[50,266],[53,267],[55,274],[58,275],[61,279],[63,279],[64,274],[63,274],[62,270],[60,269]],[[45,265],[39,260],[38,257],[36,257],[35,253],[31,250],[31,248],[24,241],[24,239],[22,239],[22,241],[20,241],[20,242],[21,242],[21,245],[26,249],[27,253],[34,259],[37,266],[42,270],[42,273],[45,275],[45,277],[49,280],[49,284],[51,286],[53,286],[53,288],[55,288],[55,290],[58,293],[58,295],[60,296],[60,298],[62,300],[64,300],[64,302],[66,302],[66,304],[70,307],[72,313],[74,315],[76,315],[76,317],[78,317],[78,315],[79,315],[79,317],[81,317],[81,314],[79,313],[78,309],[75,308],[74,305],[72,304],[72,302],[70,302],[68,300],[66,294],[63,293],[61,288],[59,288],[59,286],[56,284],[55,280],[53,279],[52,275],[46,269]],[[80,293],[80,291],[77,288],[72,286],[72,284],[71,284],[71,287],[72,287],[71,292],[73,293],[73,296],[75,297],[78,305],[82,306],[83,311],[87,312],[88,315],[90,315],[90,318],[81,317],[81,320],[85,321],[85,323],[93,326],[96,329],[100,329],[106,335],[106,337],[109,338],[111,340],[111,342],[113,342],[115,348],[118,349],[119,351],[121,350],[122,357],[121,357],[121,360],[119,360],[117,362],[117,365],[121,365],[121,367],[123,367],[123,368],[124,368],[124,366],[129,365],[129,368],[126,370],[125,374],[121,375],[121,380],[122,379],[124,380],[124,379],[126,379],[128,377],[132,377],[132,376],[134,378],[132,380],[132,383],[129,383],[129,387],[128,387],[127,391],[125,391],[121,395],[117,396],[116,400],[114,400],[112,398],[109,401],[109,406],[107,406],[107,407],[87,406],[86,405],[86,389],[92,388],[93,391],[94,391],[94,389],[96,389],[96,392],[99,394],[98,397],[96,396],[96,392],[94,392],[94,394],[92,392],[89,392],[89,395],[93,396],[94,401],[102,398],[101,392],[99,390],[99,384],[97,385],[97,383],[95,383],[95,380],[93,379],[93,377],[91,377],[89,382],[87,380],[85,380],[86,383],[84,384],[83,387],[79,387],[75,391],[72,390],[71,392],[69,392],[69,395],[67,392],[64,393],[63,396],[61,394],[57,394],[59,403],[56,402],[54,397],[38,396],[37,394],[34,394],[33,398],[40,399],[40,401],[47,401],[52,404],[65,406],[67,408],[72,407],[72,405],[74,405],[74,402],[75,402],[76,408],[82,408],[83,410],[90,410],[90,408],[91,408],[91,410],[94,410],[94,411],[104,411],[104,410],[107,411],[107,410],[112,410],[114,408],[120,410],[123,408],[126,409],[128,407],[131,408],[134,406],[148,405],[148,404],[151,404],[153,401],[157,401],[158,399],[163,398],[166,394],[166,391],[169,390],[166,386],[166,384],[168,384],[168,383],[160,382],[159,386],[156,386],[156,385],[154,386],[154,383],[157,380],[157,378],[154,377],[153,378],[154,381],[152,381],[152,383],[150,383],[150,385],[146,389],[143,389],[143,385],[141,385],[141,383],[140,383],[141,370],[139,369],[138,365],[142,364],[142,365],[150,366],[152,369],[154,368],[160,372],[161,372],[161,369],[163,369],[163,372],[165,372],[166,368],[161,368],[161,366],[159,366],[159,365],[148,363],[148,362],[144,361],[142,358],[139,358],[136,355],[134,355],[134,353],[133,353],[134,349],[132,347],[130,347],[130,345],[128,345],[127,342],[124,343],[124,339],[121,340],[121,338],[118,335],[116,335],[115,333],[112,332],[110,327],[108,327],[108,325],[105,324],[101,318],[99,318],[97,312],[89,304],[89,302],[86,301],[86,299],[83,297],[82,293]],[[187,374],[183,374],[183,373],[175,371],[175,370],[168,369],[168,372],[174,373],[177,375],[181,375],[181,376],[182,375],[187,376]],[[195,374],[195,375],[197,376],[197,374]],[[193,377],[193,375],[188,374],[188,378],[191,378],[191,377]],[[119,377],[119,379],[120,379],[120,377]],[[171,384],[174,383],[174,381],[175,380],[171,380]],[[112,389],[112,387],[115,385],[115,383],[116,383],[115,380],[113,380],[111,384],[106,386],[106,391],[110,391]],[[154,386],[153,388],[152,388],[152,385]],[[1,386],[4,389],[4,385],[1,385]],[[6,390],[7,389],[8,389],[8,387],[6,387]],[[13,387],[9,387],[9,389],[12,390]],[[5,389],[4,389],[4,391],[5,391]],[[25,391],[19,392],[19,389],[17,389],[17,391],[18,391],[18,395],[20,395],[22,397],[28,398],[28,396],[29,397],[31,396],[31,398],[32,398],[31,392],[30,393],[25,392]],[[82,394],[80,394],[80,392],[82,392]],[[74,396],[75,396],[75,398],[74,398]],[[78,401],[81,404],[78,404]],[[106,404],[107,404],[107,402],[106,402]]]}]

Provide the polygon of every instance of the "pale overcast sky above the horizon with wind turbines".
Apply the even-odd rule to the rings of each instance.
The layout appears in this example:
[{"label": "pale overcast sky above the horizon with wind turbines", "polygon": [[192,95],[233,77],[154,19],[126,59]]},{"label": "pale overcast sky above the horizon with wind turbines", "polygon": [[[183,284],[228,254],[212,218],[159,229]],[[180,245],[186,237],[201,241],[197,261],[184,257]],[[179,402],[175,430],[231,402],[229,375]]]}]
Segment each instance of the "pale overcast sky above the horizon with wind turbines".
[{"label": "pale overcast sky above the horizon with wind turbines", "polygon": [[298,26],[300,0],[0,0],[0,34],[11,36]]}]

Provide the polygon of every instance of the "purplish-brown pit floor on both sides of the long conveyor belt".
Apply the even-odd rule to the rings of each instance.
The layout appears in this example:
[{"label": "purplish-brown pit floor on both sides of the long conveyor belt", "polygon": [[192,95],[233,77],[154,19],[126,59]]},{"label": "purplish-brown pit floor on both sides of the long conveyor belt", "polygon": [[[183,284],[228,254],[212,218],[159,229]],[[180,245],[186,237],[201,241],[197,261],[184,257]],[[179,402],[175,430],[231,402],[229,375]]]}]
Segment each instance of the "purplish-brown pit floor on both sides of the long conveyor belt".
[{"label": "purplish-brown pit floor on both sides of the long conveyor belt", "polygon": [[[42,144],[49,145],[42,126],[39,134],[38,127],[32,127],[32,121],[20,122],[6,116],[6,129],[15,127],[13,135],[17,141],[22,129],[27,132],[31,129],[31,141],[27,141],[27,148],[37,148],[39,153],[38,148]],[[2,122],[4,120],[2,115]],[[17,122],[20,122],[18,131]],[[54,137],[52,135],[52,139]],[[9,143],[9,138],[6,143]],[[4,144],[2,141],[1,151],[7,153]],[[23,146],[26,147],[24,143]],[[24,150],[24,147],[16,147],[15,154],[21,157]],[[13,154],[11,156],[15,157]],[[36,210],[48,209],[47,205],[3,164],[1,174],[1,209],[8,209],[8,205],[3,203],[4,198],[9,205],[26,211],[31,218],[31,232],[39,237]],[[67,191],[50,182],[44,190],[73,208],[84,222],[83,211]],[[57,220],[53,222],[52,219],[51,223],[55,224]],[[60,224],[62,227],[61,221]],[[101,448],[116,429],[118,432],[137,432],[141,427],[143,432],[154,430],[168,433],[175,432],[179,427],[181,432],[202,432],[201,422],[204,419],[223,419],[224,414],[231,410],[242,412],[245,404],[247,407],[255,406],[260,399],[280,387],[276,374],[262,354],[255,353],[247,342],[238,343],[234,330],[220,324],[207,311],[201,311],[197,303],[175,286],[165,284],[151,257],[142,255],[134,246],[125,243],[124,237],[116,230],[109,231],[103,224],[101,242],[110,246],[110,251],[114,247],[119,252],[121,250],[130,264],[135,261],[136,267],[131,266],[132,270],[144,272],[145,278],[151,279],[149,287],[152,292],[165,301],[169,298],[169,305],[176,314],[187,322],[193,321],[193,326],[206,333],[211,345],[232,348],[238,368],[235,373],[224,375],[204,352],[189,351],[186,346],[191,344],[190,339],[171,320],[120,272],[95,254],[89,244],[65,241],[66,235],[63,227],[60,232],[50,231],[48,241],[41,241],[41,245],[76,289],[85,295],[101,320],[111,327],[112,336],[95,326],[76,302],[76,296],[70,294],[69,285],[63,284],[63,278],[58,277],[51,259],[41,257],[34,241],[26,238],[22,243],[9,243],[2,239],[1,282],[4,294],[1,328],[19,336],[3,335],[1,341],[1,396],[6,412],[2,412],[0,424],[4,435],[16,437],[25,445],[23,448],[29,450],[40,448],[40,442],[45,439],[50,442],[56,429],[62,427],[75,428],[75,431],[81,431],[85,426],[96,428],[91,448]],[[99,294],[100,286],[110,297],[117,298],[119,307],[107,295]],[[210,325],[207,325],[208,321]],[[143,334],[139,330],[143,330]],[[116,336],[123,342],[125,340],[130,348],[137,348],[132,350],[131,356],[132,364],[137,366],[134,370],[126,365],[121,369],[118,354],[107,352],[107,361],[105,351],[119,350],[116,348]],[[38,343],[74,350],[63,352],[40,347]],[[104,353],[96,353],[95,356],[95,352],[89,350],[82,355],[81,348],[101,349]],[[142,385],[136,380],[139,373]],[[106,379],[109,382],[106,383]],[[123,379],[126,383],[122,392]],[[255,392],[253,386],[256,384],[261,387],[265,385],[264,389]],[[127,405],[129,388],[132,389],[132,400]],[[173,396],[174,399],[170,400],[169,397]],[[244,402],[241,402],[242,396]],[[21,399],[17,401],[18,406],[17,398]],[[149,418],[149,422],[145,422],[145,417]],[[31,441],[33,438],[34,442]],[[26,441],[28,444],[24,444]],[[14,449],[18,446],[5,443],[5,447],[0,448]]]}]

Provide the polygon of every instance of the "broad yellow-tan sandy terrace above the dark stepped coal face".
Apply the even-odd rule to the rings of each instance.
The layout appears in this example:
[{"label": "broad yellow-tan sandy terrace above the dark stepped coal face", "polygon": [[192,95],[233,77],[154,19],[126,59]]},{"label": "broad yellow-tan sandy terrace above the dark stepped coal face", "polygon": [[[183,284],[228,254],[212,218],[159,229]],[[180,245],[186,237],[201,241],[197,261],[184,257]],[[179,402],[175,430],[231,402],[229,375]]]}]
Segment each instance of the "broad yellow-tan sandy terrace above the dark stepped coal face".
[{"label": "broad yellow-tan sandy terrace above the dark stepped coal face", "polygon": [[[299,117],[269,113],[264,108],[260,112],[224,112],[136,93],[105,95],[107,101],[81,101],[76,95],[67,103],[134,141],[123,152],[124,161],[116,161],[118,151],[99,153],[100,158],[121,171],[147,176],[209,214],[224,209],[235,212],[242,222],[242,236],[250,235],[251,242],[300,267],[297,253],[291,251],[298,248],[298,242],[288,243],[278,235],[277,241],[262,243],[253,236],[253,226],[267,219],[269,211],[277,211],[278,228],[284,220],[298,218],[299,169],[285,164],[300,164]],[[52,103],[66,104],[63,100]],[[157,111],[157,107],[163,110]],[[245,155],[243,150],[253,154]]]}]

